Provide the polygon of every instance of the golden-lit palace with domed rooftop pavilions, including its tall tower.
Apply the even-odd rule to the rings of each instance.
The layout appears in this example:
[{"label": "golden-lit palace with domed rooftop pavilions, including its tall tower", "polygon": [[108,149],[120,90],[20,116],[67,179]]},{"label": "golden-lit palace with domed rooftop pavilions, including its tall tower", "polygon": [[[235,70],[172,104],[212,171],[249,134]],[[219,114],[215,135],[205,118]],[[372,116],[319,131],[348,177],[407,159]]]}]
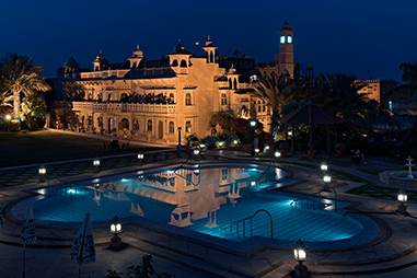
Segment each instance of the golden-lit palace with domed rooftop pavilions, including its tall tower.
[{"label": "golden-lit palace with domed rooftop pavilions, including its tall tower", "polygon": [[238,49],[221,57],[210,37],[204,56],[187,51],[179,40],[159,60],[146,59],[139,46],[119,63],[108,62],[100,51],[89,72],[71,57],[58,70],[63,101],[54,109],[54,124],[118,136],[134,130],[139,139],[166,142],[177,140],[179,127],[198,138],[211,135],[210,113],[233,111],[268,128],[270,111],[250,91],[256,73],[294,76],[292,32],[286,22],[279,31],[279,55],[268,65],[255,65]]}]

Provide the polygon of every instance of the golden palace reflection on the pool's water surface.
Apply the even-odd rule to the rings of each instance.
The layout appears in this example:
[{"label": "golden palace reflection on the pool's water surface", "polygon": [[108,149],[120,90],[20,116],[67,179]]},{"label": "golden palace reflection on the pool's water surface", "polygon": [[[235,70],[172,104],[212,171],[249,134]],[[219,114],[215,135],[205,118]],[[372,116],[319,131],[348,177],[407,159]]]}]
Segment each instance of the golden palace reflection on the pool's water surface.
[{"label": "golden palace reflection on the pool's water surface", "polygon": [[[242,188],[259,177],[260,172],[244,169],[182,169],[124,178],[104,183],[95,190],[94,199],[100,204],[103,197],[128,200],[130,212],[146,218],[152,211],[163,211],[170,217],[170,224],[192,225],[193,221],[208,219],[206,227],[217,227],[216,217],[220,206],[234,206],[242,197]],[[97,197],[100,196],[100,197]],[[99,200],[97,200],[99,198]]]}]

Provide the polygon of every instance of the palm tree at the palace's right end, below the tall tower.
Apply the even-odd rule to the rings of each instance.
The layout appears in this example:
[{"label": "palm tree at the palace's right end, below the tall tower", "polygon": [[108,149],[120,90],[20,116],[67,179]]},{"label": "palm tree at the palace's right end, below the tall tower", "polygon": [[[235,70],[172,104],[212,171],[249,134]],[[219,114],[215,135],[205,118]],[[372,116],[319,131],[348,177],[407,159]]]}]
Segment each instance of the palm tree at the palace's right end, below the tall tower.
[{"label": "palm tree at the palace's right end, below the tall tower", "polygon": [[283,74],[278,77],[275,73],[259,80],[257,86],[254,88],[253,94],[265,101],[273,109],[273,131],[276,131],[282,107],[292,100],[293,90],[292,81],[288,80]]}]

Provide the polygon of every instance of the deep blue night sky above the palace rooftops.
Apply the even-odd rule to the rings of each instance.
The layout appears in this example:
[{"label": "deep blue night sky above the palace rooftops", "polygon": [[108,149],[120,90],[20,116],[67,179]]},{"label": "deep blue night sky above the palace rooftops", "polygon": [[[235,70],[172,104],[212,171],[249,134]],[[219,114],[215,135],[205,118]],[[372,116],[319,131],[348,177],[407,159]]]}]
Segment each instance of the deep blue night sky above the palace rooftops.
[{"label": "deep blue night sky above the palace rooftops", "polygon": [[50,78],[71,55],[91,68],[100,49],[117,62],[139,44],[144,56],[158,59],[178,38],[195,53],[195,42],[210,35],[221,56],[238,47],[269,61],[287,20],[294,61],[303,68],[399,81],[399,63],[417,58],[416,11],[415,0],[9,1],[2,3],[0,57],[32,57]]}]

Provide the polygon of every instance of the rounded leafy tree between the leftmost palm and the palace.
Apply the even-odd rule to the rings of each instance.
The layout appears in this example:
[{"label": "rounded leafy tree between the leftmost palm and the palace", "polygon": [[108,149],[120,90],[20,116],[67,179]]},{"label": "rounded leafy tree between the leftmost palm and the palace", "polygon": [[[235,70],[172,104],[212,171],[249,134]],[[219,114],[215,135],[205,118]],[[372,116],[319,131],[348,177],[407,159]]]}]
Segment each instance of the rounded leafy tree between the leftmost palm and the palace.
[{"label": "rounded leafy tree between the leftmost palm and the palace", "polygon": [[18,116],[24,121],[28,129],[36,130],[39,120],[45,115],[46,103],[44,97],[37,94],[30,94],[23,99],[22,109]]}]

